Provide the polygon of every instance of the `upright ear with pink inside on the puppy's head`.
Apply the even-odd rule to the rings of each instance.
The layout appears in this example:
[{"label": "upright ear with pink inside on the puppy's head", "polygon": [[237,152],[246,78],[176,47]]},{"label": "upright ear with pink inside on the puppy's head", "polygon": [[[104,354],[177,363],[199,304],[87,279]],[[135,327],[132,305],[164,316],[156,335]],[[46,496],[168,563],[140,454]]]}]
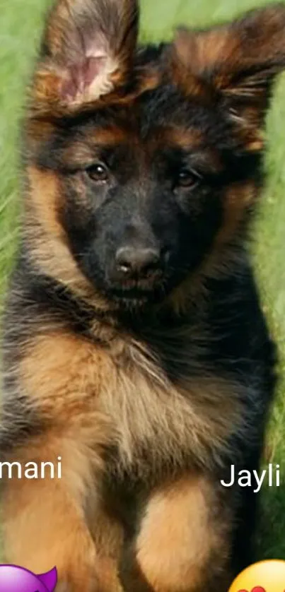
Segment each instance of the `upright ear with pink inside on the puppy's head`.
[{"label": "upright ear with pink inside on the puppy's head", "polygon": [[33,113],[72,112],[122,88],[138,23],[136,0],[57,0],[35,71]]}]

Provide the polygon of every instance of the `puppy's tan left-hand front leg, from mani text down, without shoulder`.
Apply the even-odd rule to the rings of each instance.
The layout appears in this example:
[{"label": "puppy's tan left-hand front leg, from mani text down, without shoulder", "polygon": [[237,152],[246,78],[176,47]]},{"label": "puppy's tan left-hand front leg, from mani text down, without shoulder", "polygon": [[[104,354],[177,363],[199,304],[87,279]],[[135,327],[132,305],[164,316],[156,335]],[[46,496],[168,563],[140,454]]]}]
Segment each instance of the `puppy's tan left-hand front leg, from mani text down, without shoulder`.
[{"label": "puppy's tan left-hand front leg, from mani text down, without shoulder", "polygon": [[[56,463],[59,451],[63,463],[61,480],[12,478],[4,485],[6,560],[35,573],[57,566],[62,586],[59,590],[64,592],[118,592],[121,588],[115,562],[110,558],[112,549],[98,548],[88,529],[85,504],[91,495],[95,521],[103,524],[105,516],[94,499],[95,489],[88,492],[92,485],[91,466],[83,454],[80,437],[74,436],[71,442],[46,434],[18,451],[11,461],[21,462],[22,466],[30,461],[39,466],[43,460]],[[111,536],[112,524],[108,526]]]}]

